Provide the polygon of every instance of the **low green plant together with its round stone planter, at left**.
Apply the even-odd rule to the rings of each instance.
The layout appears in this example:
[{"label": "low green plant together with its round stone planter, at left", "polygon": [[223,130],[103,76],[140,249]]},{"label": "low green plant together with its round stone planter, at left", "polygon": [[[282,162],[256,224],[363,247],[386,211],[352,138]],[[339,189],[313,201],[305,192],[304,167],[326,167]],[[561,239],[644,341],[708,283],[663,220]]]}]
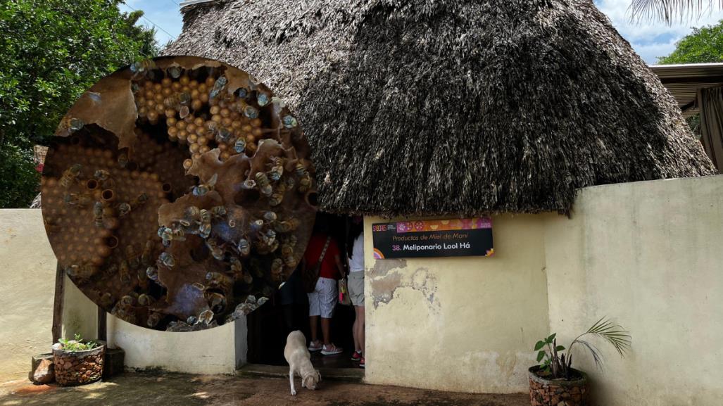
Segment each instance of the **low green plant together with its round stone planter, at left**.
[{"label": "low green plant together with its round stone planter, at left", "polygon": [[55,380],[63,386],[90,384],[103,376],[103,342],[83,342],[80,334],[75,340],[58,340],[53,345]]}]

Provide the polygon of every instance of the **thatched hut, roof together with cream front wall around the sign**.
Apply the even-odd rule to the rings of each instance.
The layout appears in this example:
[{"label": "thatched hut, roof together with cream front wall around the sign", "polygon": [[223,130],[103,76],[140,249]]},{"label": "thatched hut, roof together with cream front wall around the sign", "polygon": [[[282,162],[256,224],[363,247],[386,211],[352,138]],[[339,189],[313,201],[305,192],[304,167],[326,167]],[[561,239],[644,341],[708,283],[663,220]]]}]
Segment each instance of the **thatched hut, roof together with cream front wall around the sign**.
[{"label": "thatched hut, roof together with cream front wall around the sign", "polygon": [[[312,144],[321,210],[367,216],[369,382],[525,390],[552,321],[549,255],[578,254],[550,248],[548,222],[574,221],[586,186],[715,173],[591,0],[194,3],[166,53],[275,90]],[[373,254],[380,217],[489,214],[491,258]]]}]

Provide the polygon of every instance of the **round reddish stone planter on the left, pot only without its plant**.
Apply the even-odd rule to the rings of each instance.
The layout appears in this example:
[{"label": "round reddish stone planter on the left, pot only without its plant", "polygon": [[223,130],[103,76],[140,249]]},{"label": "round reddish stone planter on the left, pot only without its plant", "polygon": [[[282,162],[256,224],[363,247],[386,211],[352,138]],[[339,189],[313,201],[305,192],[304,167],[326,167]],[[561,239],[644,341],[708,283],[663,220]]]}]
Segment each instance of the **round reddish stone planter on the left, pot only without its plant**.
[{"label": "round reddish stone planter on the left, pot only without its plant", "polygon": [[53,350],[55,381],[63,386],[90,384],[103,376],[106,343],[85,351]]}]

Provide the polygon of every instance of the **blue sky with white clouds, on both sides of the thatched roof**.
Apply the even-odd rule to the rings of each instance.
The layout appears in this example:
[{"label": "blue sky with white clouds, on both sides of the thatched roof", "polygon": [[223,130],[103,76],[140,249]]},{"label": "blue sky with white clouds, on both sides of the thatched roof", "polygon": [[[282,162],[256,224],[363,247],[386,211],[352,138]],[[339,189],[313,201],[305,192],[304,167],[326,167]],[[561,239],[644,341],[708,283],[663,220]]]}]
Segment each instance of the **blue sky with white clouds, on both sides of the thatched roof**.
[{"label": "blue sky with white clouds, on both sides of the thatched roof", "polygon": [[[120,9],[124,12],[131,11],[131,8],[143,10],[147,19],[141,19],[141,23],[161,27],[162,30],[157,29],[156,39],[158,43],[164,45],[181,33],[183,20],[179,12],[179,1],[181,0],[127,0],[127,5],[121,4]],[[628,18],[630,1],[596,0],[595,4],[607,14],[620,34],[633,44],[633,48],[649,64],[654,64],[658,56],[671,53],[675,49],[677,40],[690,33],[691,27],[710,25],[723,20],[723,12],[716,9],[714,12],[703,14],[694,22],[677,22],[672,25],[663,22],[633,23]]]}]

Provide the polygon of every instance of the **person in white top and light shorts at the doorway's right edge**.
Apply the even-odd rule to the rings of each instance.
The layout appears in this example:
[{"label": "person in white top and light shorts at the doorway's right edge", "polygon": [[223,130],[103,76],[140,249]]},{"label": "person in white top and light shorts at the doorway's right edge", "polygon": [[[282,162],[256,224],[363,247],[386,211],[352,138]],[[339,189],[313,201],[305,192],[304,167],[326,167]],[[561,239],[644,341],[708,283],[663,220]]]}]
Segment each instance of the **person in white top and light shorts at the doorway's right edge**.
[{"label": "person in white top and light shorts at the doorway's right edge", "polygon": [[351,327],[354,335],[354,354],[351,360],[358,361],[364,368],[364,220],[362,217],[351,219],[348,236],[348,289],[351,304],[354,305],[356,319]]}]

